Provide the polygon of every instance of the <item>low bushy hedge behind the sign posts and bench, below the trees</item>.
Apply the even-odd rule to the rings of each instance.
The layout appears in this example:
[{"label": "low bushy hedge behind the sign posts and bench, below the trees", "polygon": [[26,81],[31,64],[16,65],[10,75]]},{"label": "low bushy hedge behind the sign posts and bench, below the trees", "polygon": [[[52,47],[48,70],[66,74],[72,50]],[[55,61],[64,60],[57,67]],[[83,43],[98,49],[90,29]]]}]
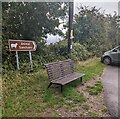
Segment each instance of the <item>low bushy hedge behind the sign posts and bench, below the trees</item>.
[{"label": "low bushy hedge behind the sign posts and bench, below the trees", "polygon": [[[3,42],[3,69],[16,69],[15,52],[10,52],[8,49],[8,40]],[[80,43],[73,43],[71,54],[68,54],[67,40],[62,40],[53,45],[37,45],[37,51],[32,52],[33,69],[34,71],[44,68],[44,64],[68,58],[74,61],[86,60],[92,57],[92,54],[87,51],[85,46]],[[40,48],[41,47],[41,48]],[[21,72],[30,72],[30,61],[28,52],[19,52],[19,62]]]}]

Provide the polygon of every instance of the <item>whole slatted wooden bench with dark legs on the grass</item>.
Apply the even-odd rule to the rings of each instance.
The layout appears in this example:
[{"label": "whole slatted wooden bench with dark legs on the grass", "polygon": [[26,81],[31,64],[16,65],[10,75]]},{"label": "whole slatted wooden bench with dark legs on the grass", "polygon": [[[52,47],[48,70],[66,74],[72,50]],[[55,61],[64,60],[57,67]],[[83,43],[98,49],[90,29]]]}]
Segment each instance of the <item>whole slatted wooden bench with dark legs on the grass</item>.
[{"label": "whole slatted wooden bench with dark legs on the grass", "polygon": [[71,59],[45,64],[45,67],[47,69],[48,78],[50,80],[48,88],[52,84],[57,84],[61,86],[61,92],[63,85],[78,78],[80,78],[80,81],[82,82],[82,77],[85,75],[74,72],[74,64]]}]

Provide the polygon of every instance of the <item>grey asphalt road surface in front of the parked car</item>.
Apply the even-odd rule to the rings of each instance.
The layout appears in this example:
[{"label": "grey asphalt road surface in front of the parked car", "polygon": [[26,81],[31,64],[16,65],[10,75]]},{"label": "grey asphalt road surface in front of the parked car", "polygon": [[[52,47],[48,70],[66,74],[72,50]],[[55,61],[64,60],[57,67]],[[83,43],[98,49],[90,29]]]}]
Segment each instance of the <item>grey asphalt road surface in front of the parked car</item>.
[{"label": "grey asphalt road surface in front of the parked car", "polygon": [[[120,103],[118,104],[118,86],[120,79],[120,67],[107,66],[102,76],[102,83],[104,87],[105,103],[112,117],[120,117]],[[119,111],[118,111],[119,110]]]}]

